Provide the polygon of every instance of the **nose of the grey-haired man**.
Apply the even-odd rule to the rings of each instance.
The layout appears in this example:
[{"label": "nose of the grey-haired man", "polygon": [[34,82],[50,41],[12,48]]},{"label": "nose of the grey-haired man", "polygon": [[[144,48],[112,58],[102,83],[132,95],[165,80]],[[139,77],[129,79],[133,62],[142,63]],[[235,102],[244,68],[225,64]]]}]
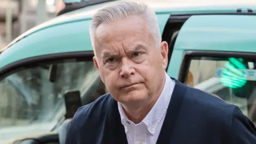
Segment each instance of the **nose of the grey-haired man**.
[{"label": "nose of the grey-haired man", "polygon": [[121,67],[121,72],[120,76],[122,78],[130,77],[131,75],[135,74],[135,69],[133,67],[134,63],[127,59],[127,58],[122,58],[122,67]]}]

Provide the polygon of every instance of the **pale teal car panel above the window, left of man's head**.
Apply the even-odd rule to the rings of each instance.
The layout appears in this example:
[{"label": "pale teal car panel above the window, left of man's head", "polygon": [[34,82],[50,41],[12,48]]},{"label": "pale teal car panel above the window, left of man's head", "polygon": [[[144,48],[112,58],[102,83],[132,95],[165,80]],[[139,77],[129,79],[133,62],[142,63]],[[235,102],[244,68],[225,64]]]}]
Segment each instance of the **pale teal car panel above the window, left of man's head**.
[{"label": "pale teal car panel above the window, left of man's head", "polygon": [[1,53],[0,67],[39,55],[91,51],[89,28],[83,28],[89,26],[90,21],[79,21],[37,31]]}]

